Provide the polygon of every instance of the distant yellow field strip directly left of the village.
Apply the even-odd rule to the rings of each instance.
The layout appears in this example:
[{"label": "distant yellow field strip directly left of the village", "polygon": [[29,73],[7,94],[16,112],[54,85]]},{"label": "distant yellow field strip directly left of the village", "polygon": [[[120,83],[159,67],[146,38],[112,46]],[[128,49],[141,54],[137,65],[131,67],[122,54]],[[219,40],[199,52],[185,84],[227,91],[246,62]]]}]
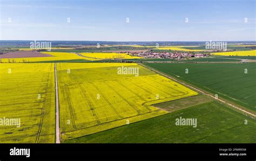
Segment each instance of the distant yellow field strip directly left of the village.
[{"label": "distant yellow field strip directly left of the village", "polygon": [[91,59],[140,59],[142,57],[133,57],[127,53],[80,53],[86,58]]}]

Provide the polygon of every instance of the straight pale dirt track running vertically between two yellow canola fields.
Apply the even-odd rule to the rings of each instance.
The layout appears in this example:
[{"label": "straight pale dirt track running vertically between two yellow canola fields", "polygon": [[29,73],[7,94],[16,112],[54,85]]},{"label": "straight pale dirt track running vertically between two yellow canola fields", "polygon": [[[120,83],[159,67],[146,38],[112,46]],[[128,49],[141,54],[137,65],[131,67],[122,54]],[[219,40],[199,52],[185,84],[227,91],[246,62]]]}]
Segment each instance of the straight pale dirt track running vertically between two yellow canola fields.
[{"label": "straight pale dirt track running vertically between two yellow canola fields", "polygon": [[60,143],[59,139],[59,95],[58,95],[58,81],[57,81],[57,68],[56,68],[56,62],[55,62],[55,104],[56,104],[56,143]]}]

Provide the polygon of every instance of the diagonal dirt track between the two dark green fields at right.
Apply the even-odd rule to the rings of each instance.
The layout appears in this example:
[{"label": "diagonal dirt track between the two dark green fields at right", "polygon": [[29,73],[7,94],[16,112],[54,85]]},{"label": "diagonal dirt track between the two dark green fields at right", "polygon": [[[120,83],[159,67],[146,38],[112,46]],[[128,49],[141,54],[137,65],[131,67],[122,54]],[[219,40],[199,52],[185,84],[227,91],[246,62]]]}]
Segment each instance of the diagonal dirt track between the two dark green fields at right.
[{"label": "diagonal dirt track between the two dark green fields at right", "polygon": [[[215,99],[214,96],[212,96],[212,95],[210,95],[210,94],[207,94],[207,93],[203,92],[202,90],[200,90],[200,89],[198,89],[198,88],[194,88],[194,87],[192,87],[192,86],[190,86],[190,85],[187,85],[186,83],[181,82],[181,81],[179,81],[179,80],[177,80],[177,79],[174,79],[174,78],[172,78],[171,76],[166,75],[166,74],[164,74],[164,73],[162,73],[162,72],[159,72],[159,71],[157,71],[156,69],[153,69],[153,68],[151,68],[151,67],[149,67],[149,66],[143,65],[143,64],[141,64],[141,63],[138,63],[138,64],[141,65],[141,66],[144,66],[145,68],[148,68],[148,69],[150,69],[151,71],[154,71],[154,72],[156,72],[156,73],[158,73],[158,74],[160,74],[160,75],[163,75],[163,76],[165,76],[166,78],[169,78],[169,79],[171,79],[171,80],[174,80],[174,81],[176,81],[176,82],[178,82],[178,83],[180,83],[180,84],[182,84],[182,85],[184,85],[184,86],[186,86],[186,87],[190,87],[190,88],[192,88],[192,89],[194,89],[194,90],[197,90],[197,91],[200,92],[200,93],[203,93],[203,94],[205,94],[205,95],[207,95],[207,96],[210,96],[210,97],[212,97],[213,99]],[[228,102],[226,102],[226,101],[224,101],[224,100],[218,99],[218,101],[223,102],[223,103],[225,103],[225,104],[227,104],[227,105],[229,105],[229,106],[231,106],[231,107],[233,107],[233,108],[235,108],[235,109],[238,109],[238,110],[240,110],[240,111],[242,111],[242,112],[244,112],[244,113],[246,113],[246,114],[249,114],[249,115],[251,115],[251,116],[256,117],[256,115],[254,115],[254,114],[252,114],[252,113],[250,113],[250,112],[248,112],[248,111],[246,111],[246,110],[244,110],[244,109],[241,109],[241,108],[239,108],[239,107],[237,107],[237,106],[234,106],[233,104],[228,103]]]}]

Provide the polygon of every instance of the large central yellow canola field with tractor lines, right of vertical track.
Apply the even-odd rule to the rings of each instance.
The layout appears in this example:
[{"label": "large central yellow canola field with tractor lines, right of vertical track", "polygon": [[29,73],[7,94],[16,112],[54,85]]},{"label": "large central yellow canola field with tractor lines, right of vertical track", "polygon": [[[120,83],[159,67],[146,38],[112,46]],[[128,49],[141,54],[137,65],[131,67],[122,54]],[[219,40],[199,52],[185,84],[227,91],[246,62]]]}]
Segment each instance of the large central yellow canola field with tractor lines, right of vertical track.
[{"label": "large central yellow canola field with tractor lines, right of vertical track", "polygon": [[198,94],[138,64],[60,63],[57,75],[62,141],[166,114],[152,104]]}]

